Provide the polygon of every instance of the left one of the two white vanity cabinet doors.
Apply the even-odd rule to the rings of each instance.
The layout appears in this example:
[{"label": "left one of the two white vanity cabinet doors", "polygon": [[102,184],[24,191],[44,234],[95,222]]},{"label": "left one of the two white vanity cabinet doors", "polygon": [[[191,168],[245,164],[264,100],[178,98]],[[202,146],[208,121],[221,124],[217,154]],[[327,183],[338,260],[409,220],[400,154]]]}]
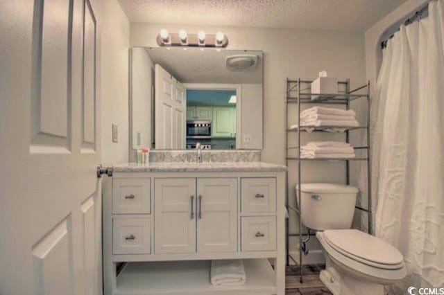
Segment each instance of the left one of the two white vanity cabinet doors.
[{"label": "left one of the two white vanity cabinet doors", "polygon": [[154,180],[155,253],[196,252],[196,179]]}]

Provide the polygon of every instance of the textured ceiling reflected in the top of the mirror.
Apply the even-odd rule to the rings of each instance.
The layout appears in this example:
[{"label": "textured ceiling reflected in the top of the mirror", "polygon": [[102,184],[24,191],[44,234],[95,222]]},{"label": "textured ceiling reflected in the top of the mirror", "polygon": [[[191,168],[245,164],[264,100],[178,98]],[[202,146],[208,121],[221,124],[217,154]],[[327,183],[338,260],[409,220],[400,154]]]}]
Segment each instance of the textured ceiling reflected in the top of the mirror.
[{"label": "textured ceiling reflected in the top of the mirror", "polygon": [[[262,83],[262,51],[239,51],[198,48],[146,48],[154,64],[160,64],[182,83]],[[257,55],[257,65],[246,71],[229,71],[225,57],[229,55]]]}]

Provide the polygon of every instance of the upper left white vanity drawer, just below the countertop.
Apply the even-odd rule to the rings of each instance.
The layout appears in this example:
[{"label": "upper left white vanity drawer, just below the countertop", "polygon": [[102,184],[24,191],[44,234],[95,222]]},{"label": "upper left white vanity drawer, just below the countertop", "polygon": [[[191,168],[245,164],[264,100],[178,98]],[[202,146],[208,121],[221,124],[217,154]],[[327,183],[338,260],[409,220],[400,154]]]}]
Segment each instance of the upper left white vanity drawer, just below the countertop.
[{"label": "upper left white vanity drawer, just below the countertop", "polygon": [[113,214],[149,214],[151,179],[112,179]]}]

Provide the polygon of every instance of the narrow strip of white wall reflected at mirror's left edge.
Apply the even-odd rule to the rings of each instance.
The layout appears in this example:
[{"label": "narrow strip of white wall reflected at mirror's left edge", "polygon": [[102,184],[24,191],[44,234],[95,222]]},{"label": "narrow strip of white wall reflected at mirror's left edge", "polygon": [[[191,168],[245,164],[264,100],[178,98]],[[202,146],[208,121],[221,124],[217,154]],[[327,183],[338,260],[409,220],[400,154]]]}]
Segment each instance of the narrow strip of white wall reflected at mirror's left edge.
[{"label": "narrow strip of white wall reflected at mirror's left edge", "polygon": [[[132,49],[132,113],[133,140],[135,149],[151,148],[151,87],[154,82],[154,64],[145,48]],[[140,132],[140,144],[137,145],[137,132]]]}]

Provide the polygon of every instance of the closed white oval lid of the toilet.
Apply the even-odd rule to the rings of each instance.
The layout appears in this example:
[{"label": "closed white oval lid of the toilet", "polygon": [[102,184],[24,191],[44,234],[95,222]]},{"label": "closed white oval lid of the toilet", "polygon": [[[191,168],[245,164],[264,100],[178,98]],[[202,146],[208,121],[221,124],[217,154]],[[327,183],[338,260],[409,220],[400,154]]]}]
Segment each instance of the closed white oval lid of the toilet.
[{"label": "closed white oval lid of the toilet", "polygon": [[356,229],[334,229],[324,231],[324,237],[330,246],[350,258],[382,268],[402,267],[404,258],[400,251],[368,233]]}]

